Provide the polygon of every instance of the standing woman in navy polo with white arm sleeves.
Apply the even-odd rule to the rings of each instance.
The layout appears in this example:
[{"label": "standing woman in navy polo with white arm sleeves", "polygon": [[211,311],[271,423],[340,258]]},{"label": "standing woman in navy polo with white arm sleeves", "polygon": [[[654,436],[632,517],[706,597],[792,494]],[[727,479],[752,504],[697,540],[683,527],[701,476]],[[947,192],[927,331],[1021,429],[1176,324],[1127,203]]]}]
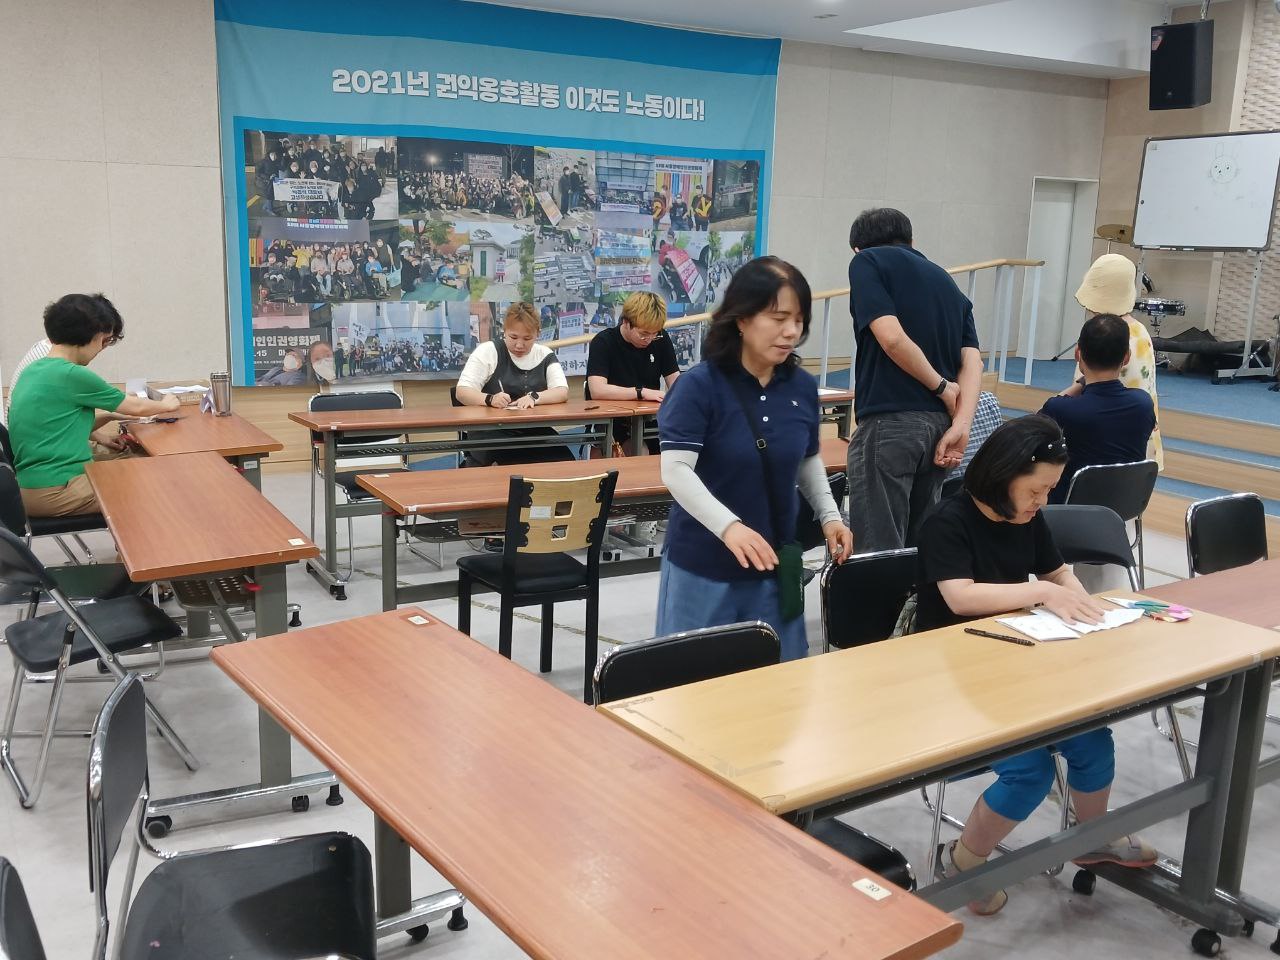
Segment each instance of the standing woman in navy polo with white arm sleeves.
[{"label": "standing woman in navy polo with white arm sleeves", "polygon": [[[703,362],[663,401],[662,479],[676,504],[662,556],[659,635],[763,620],[781,636],[783,659],[808,653],[804,617],[785,611],[788,589],[778,582],[780,552],[795,536],[796,486],[837,562],[854,540],[818,454],[818,384],[795,356],[810,306],[809,283],[791,264],[746,264],[712,317]],[[794,572],[788,567],[782,572]]]}]

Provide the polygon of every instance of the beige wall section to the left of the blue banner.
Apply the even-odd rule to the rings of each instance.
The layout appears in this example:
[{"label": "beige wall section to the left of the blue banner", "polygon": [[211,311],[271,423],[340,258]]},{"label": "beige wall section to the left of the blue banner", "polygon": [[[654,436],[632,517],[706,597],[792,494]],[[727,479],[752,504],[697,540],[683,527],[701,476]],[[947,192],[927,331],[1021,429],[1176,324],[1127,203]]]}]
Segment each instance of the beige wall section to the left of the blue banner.
[{"label": "beige wall section to the left of the blue banner", "polygon": [[225,369],[211,0],[0,9],[0,370],[70,291],[124,315],[108,379]]}]

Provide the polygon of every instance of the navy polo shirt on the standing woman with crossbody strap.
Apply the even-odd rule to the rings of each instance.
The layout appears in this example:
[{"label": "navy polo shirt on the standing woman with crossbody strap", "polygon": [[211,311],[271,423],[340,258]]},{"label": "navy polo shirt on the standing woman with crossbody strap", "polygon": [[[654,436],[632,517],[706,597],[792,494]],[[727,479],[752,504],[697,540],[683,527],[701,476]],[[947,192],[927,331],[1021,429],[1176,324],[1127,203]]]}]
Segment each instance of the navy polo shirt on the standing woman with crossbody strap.
[{"label": "navy polo shirt on the standing woman with crossbody strap", "polygon": [[[737,396],[742,398],[739,403]],[[773,495],[785,517],[773,529],[764,468],[742,404],[755,417],[768,444]],[[694,472],[712,495],[774,547],[795,536],[800,462],[818,453],[818,381],[799,367],[778,366],[768,387],[740,365],[732,369],[701,362],[685,374],[658,408],[658,435],[664,451],[692,451]],[[681,570],[709,580],[763,580],[772,571],[742,570],[721,539],[677,503],[667,521],[663,548]]]}]

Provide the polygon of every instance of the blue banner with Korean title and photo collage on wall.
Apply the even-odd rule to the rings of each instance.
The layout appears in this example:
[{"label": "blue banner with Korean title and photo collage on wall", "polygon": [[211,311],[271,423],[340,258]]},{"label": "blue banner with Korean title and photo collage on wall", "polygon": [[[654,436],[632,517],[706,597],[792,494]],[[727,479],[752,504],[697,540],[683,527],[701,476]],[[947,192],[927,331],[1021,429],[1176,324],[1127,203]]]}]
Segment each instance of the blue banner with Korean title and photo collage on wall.
[{"label": "blue banner with Korean title and photo collage on wall", "polygon": [[[764,246],[780,42],[438,0],[216,0],[237,384],[454,378]],[[570,374],[585,348],[561,351]]]}]

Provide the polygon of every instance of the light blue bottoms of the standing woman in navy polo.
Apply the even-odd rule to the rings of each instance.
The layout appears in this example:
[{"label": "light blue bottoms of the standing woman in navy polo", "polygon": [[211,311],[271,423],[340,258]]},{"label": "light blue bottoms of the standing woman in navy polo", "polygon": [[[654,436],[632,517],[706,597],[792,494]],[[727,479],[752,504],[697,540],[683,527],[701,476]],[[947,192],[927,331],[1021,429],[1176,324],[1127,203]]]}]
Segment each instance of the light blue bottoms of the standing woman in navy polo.
[{"label": "light blue bottoms of the standing woman in navy polo", "polygon": [[745,620],[763,620],[782,640],[782,659],[797,660],[809,654],[804,617],[782,620],[778,581],[708,580],[677,567],[666,557],[658,579],[658,636],[685,630],[719,627]]}]

